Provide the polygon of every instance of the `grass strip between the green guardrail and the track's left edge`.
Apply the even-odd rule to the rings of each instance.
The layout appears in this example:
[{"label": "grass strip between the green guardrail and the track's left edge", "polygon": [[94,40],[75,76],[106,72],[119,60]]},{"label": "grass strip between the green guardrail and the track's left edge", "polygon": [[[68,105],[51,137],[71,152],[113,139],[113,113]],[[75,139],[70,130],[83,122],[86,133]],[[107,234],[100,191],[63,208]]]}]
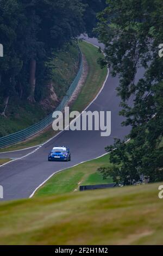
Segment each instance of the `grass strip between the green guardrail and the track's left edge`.
[{"label": "grass strip between the green guardrail and the track's left edge", "polygon": [[[107,69],[101,69],[97,64],[97,59],[99,57],[102,58],[103,53],[99,53],[97,47],[84,41],[79,42],[79,46],[86,57],[89,74],[87,75],[86,81],[80,94],[77,97],[77,100],[71,106],[71,109],[75,109],[76,111],[82,111],[87,105],[89,105],[89,103],[101,89],[107,74]],[[11,147],[0,149],[0,152],[33,147],[45,142],[47,139],[53,137],[56,134],[57,132],[53,131],[52,127],[50,127],[48,130],[41,133],[41,135],[36,136],[35,138],[29,139],[27,142],[18,143],[16,145],[12,145]]]}]

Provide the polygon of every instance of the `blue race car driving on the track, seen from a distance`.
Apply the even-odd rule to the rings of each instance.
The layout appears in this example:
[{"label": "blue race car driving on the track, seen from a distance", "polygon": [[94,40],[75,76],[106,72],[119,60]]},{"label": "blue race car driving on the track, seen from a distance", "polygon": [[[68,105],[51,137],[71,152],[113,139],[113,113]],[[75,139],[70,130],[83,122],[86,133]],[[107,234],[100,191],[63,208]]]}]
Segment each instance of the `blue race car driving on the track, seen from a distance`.
[{"label": "blue race car driving on the track, seen from a distance", "polygon": [[71,161],[71,153],[69,147],[54,147],[48,155],[48,161]]}]

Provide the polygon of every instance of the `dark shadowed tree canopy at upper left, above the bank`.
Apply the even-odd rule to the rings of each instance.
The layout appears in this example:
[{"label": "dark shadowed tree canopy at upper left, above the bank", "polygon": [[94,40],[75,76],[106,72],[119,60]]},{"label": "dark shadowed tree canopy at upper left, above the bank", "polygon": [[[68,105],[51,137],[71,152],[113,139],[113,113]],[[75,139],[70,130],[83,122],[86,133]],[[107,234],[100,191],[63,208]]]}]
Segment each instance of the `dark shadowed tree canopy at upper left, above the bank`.
[{"label": "dark shadowed tree canopy at upper left, above the bank", "polygon": [[[41,100],[42,81],[48,78],[46,61],[53,50],[81,33],[90,32],[96,11],[104,1],[0,0],[0,113],[10,96]],[[91,17],[91,18],[90,18]]]}]

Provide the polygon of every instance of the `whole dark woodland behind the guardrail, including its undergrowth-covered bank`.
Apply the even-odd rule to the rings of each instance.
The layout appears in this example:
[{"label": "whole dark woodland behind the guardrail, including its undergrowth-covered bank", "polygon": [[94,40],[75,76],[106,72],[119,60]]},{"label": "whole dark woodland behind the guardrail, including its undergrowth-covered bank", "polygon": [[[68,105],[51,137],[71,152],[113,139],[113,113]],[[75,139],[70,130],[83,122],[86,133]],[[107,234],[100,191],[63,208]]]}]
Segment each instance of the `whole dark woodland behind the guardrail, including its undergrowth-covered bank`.
[{"label": "whole dark woodland behind the guardrail, including its undergrowth-covered bank", "polygon": [[[104,7],[101,0],[0,0],[0,136],[12,132],[3,123],[20,112],[30,112],[35,123],[54,109],[57,101],[49,102],[47,109],[41,103],[49,94],[59,101],[66,93],[70,84],[65,80],[72,82],[78,71],[76,39],[84,32],[92,34],[96,14]],[[64,65],[71,75],[59,77],[58,72],[53,77]],[[52,78],[54,88],[49,86]]]}]

